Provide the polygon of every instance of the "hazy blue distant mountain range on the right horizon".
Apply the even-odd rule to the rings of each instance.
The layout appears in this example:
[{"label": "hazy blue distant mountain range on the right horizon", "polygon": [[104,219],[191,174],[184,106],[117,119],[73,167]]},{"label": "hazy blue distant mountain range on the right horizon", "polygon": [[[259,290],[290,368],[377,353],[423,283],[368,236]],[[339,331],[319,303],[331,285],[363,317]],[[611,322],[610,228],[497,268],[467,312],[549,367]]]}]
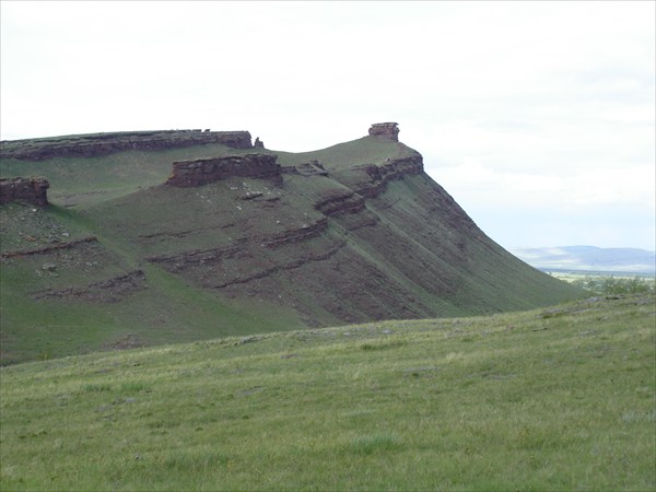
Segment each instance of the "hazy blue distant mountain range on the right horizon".
[{"label": "hazy blue distant mountain range on the right horizon", "polygon": [[540,270],[656,273],[656,253],[646,249],[560,246],[511,253]]}]

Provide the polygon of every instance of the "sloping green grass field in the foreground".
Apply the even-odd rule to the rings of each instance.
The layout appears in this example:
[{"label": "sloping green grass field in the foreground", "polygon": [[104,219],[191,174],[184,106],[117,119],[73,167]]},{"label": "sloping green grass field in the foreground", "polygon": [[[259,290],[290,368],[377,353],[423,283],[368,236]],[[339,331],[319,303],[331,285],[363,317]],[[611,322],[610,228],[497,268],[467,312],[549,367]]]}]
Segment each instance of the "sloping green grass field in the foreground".
[{"label": "sloping green grass field in the foreground", "polygon": [[5,490],[654,490],[655,300],[3,367]]}]

